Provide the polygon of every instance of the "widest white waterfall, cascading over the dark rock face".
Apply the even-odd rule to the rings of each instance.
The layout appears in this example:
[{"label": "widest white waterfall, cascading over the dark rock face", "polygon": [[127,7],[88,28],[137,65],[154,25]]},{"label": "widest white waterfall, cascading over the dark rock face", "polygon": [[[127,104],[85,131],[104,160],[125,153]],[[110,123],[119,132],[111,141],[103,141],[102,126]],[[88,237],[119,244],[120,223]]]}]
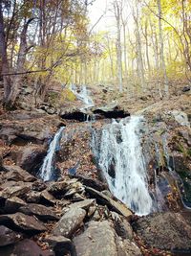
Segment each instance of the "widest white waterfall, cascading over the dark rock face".
[{"label": "widest white waterfall, cascading over the dark rock face", "polygon": [[111,192],[138,215],[146,215],[152,211],[153,201],[139,141],[141,120],[138,116],[119,123],[114,120],[102,129],[101,137],[94,138],[93,143],[98,165]]}]

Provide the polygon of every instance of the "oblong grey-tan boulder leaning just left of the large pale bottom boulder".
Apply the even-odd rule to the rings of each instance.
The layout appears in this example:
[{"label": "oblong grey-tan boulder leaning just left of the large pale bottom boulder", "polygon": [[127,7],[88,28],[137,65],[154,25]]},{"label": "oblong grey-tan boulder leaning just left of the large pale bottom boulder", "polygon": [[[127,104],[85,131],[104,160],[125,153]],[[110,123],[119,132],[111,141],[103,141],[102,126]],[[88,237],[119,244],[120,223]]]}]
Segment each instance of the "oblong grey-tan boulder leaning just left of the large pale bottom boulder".
[{"label": "oblong grey-tan boulder leaning just left of the large pale bottom boulder", "polygon": [[55,224],[55,226],[53,227],[53,235],[71,238],[74,232],[83,223],[85,216],[85,210],[72,207],[67,213],[62,216],[60,221]]}]

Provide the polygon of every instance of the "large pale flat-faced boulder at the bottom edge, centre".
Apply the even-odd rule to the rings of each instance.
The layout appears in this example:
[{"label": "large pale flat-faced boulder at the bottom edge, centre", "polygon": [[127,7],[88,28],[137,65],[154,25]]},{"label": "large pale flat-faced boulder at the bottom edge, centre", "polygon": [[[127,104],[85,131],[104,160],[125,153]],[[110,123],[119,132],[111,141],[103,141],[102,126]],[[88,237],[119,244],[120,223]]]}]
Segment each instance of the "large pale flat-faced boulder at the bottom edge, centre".
[{"label": "large pale flat-faced boulder at the bottom edge, centre", "polygon": [[74,238],[77,256],[118,256],[116,233],[109,221],[91,221],[87,229]]}]

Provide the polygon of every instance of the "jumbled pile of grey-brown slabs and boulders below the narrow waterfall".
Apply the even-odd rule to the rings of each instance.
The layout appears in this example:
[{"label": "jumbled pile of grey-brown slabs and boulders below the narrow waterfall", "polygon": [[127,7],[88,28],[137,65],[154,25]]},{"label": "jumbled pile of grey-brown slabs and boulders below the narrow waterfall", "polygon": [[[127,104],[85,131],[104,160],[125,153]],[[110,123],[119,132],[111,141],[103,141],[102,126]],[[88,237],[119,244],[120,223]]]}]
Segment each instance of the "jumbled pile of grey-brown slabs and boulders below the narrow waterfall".
[{"label": "jumbled pile of grey-brown slabs and boulders below the narrow waterfall", "polygon": [[104,184],[82,176],[45,183],[18,166],[0,175],[0,255],[141,255],[132,212]]}]

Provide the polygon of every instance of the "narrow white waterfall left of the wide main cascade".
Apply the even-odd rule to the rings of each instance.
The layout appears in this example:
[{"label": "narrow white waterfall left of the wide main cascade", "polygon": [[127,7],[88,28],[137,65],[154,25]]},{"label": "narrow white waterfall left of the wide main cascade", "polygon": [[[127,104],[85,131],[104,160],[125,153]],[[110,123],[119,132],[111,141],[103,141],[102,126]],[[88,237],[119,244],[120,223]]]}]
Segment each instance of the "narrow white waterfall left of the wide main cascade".
[{"label": "narrow white waterfall left of the wide main cascade", "polygon": [[40,169],[39,175],[44,181],[51,180],[54,175],[53,174],[53,171],[54,171],[53,159],[54,159],[55,151],[57,151],[59,148],[59,141],[61,139],[63,129],[64,129],[64,127],[59,128],[57,130],[57,132],[55,133],[55,135],[53,137],[53,141],[51,142],[51,144],[49,146],[48,153],[47,153],[47,155],[44,159],[43,165]]}]

